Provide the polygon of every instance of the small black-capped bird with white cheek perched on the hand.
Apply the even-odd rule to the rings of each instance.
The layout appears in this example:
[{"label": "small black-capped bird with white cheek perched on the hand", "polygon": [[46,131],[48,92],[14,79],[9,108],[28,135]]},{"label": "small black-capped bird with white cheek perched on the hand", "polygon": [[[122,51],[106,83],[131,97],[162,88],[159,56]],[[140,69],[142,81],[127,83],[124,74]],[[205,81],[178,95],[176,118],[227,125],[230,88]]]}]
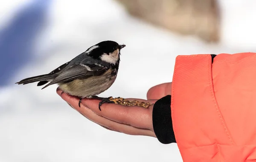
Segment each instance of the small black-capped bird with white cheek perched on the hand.
[{"label": "small black-capped bird with white cheek perched on the hand", "polygon": [[114,103],[109,98],[98,97],[116,80],[120,50],[125,45],[114,41],[103,41],[91,46],[71,61],[62,64],[52,72],[23,79],[15,84],[29,84],[38,82],[37,86],[58,84],[63,92],[79,97],[79,107],[82,98],[99,99],[103,103]]}]

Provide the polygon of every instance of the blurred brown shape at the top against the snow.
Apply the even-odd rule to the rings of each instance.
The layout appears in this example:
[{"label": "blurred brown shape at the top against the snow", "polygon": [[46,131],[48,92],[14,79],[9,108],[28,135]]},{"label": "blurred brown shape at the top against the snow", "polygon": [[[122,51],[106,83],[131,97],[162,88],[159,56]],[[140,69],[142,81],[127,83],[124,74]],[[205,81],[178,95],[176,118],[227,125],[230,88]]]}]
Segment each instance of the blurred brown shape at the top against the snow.
[{"label": "blurred brown shape at the top against the snow", "polygon": [[216,0],[117,0],[127,11],[154,25],[207,42],[219,40]]}]

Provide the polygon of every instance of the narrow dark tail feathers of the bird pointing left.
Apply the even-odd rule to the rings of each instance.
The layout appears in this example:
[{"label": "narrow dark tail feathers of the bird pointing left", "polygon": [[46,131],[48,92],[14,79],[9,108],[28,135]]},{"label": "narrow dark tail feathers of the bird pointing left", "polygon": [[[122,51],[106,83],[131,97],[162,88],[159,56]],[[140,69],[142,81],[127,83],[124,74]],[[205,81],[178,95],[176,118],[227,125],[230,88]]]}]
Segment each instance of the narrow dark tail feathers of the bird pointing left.
[{"label": "narrow dark tail feathers of the bird pointing left", "polygon": [[29,83],[34,83],[39,81],[37,86],[42,86],[44,84],[47,84],[49,81],[53,80],[54,77],[55,77],[54,74],[38,75],[38,76],[33,76],[30,78],[23,79],[15,84],[29,84]]}]

